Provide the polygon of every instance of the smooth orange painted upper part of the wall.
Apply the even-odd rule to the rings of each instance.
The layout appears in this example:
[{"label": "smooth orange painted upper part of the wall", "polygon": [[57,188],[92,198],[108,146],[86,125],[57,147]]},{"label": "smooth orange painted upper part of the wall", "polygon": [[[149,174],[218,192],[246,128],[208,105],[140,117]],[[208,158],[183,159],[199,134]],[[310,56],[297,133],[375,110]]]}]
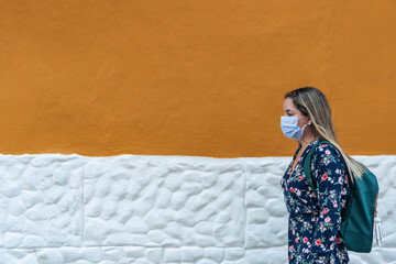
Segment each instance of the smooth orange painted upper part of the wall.
[{"label": "smooth orange painted upper part of the wall", "polygon": [[289,156],[315,86],[349,154],[396,154],[394,0],[0,7],[0,153]]}]

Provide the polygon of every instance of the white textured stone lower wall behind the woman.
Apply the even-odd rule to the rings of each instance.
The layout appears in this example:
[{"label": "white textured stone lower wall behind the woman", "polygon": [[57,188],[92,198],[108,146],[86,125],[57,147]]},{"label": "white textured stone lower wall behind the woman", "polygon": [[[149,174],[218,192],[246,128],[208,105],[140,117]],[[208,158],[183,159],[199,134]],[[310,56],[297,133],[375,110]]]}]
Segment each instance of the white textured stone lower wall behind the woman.
[{"label": "white textured stone lower wall behind the woman", "polygon": [[[378,177],[396,263],[396,156],[356,156]],[[0,263],[286,263],[279,180],[290,157],[0,155]]]}]

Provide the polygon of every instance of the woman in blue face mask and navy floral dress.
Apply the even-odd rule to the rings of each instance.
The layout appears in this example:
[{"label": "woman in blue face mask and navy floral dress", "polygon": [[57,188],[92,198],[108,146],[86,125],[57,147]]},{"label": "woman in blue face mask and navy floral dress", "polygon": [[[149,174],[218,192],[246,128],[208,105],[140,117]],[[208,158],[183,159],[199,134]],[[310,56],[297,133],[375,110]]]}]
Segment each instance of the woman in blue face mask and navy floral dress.
[{"label": "woman in blue face mask and navy floral dress", "polygon": [[[287,92],[283,110],[282,131],[298,142],[282,179],[289,212],[289,263],[349,263],[339,235],[341,209],[350,197],[348,175],[360,177],[363,168],[338,145],[330,107],[321,91],[305,87]],[[319,144],[312,151],[310,168],[316,196],[305,180],[304,162],[319,140],[331,144]]]}]

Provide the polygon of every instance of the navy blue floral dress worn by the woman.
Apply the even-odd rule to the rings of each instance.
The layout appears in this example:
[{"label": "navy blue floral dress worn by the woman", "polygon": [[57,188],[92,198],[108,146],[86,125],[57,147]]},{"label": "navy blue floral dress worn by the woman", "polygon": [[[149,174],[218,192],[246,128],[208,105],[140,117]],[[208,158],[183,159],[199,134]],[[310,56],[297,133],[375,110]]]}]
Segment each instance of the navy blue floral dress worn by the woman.
[{"label": "navy blue floral dress worn by the woman", "polygon": [[292,172],[299,145],[280,183],[289,212],[288,260],[293,264],[345,264],[349,256],[339,235],[341,209],[350,197],[345,165],[331,144],[314,150],[311,172],[317,198],[304,174],[305,157],[317,142],[307,146]]}]

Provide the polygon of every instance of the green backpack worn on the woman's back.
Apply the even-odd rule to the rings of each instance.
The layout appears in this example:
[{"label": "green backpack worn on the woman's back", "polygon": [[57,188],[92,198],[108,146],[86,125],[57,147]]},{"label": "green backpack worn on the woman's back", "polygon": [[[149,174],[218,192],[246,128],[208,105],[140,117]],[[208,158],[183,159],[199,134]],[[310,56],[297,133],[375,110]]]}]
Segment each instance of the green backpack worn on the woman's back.
[{"label": "green backpack worn on the woman's back", "polygon": [[[319,141],[316,143],[307,154],[304,163],[304,173],[307,177],[307,183],[311,185],[315,194],[318,191],[312,183],[310,162],[312,151],[319,144],[331,143],[328,141]],[[344,160],[342,158],[342,161]],[[340,234],[348,250],[369,253],[373,244],[374,217],[376,215],[376,201],[380,187],[375,175],[370,172],[367,167],[364,166],[364,168],[365,173],[362,177],[355,178],[353,182],[351,180],[351,176],[348,175],[349,182],[352,185],[351,196],[349,206],[341,211],[342,222],[340,226]]]}]

